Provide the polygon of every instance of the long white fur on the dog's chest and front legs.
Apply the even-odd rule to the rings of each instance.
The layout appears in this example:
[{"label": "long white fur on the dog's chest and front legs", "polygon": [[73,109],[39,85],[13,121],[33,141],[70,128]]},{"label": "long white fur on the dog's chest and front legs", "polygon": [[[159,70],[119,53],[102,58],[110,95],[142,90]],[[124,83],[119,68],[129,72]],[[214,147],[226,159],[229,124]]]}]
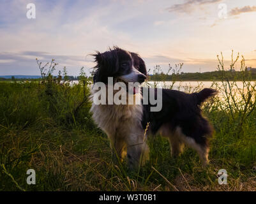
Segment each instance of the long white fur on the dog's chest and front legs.
[{"label": "long white fur on the dog's chest and front legs", "polygon": [[[140,94],[140,93],[139,93]],[[93,95],[92,95],[93,97]],[[110,146],[121,159],[128,155],[130,166],[137,166],[140,155],[147,145],[144,142],[144,129],[142,128],[142,105],[95,105],[91,106],[93,119],[110,140]]]}]

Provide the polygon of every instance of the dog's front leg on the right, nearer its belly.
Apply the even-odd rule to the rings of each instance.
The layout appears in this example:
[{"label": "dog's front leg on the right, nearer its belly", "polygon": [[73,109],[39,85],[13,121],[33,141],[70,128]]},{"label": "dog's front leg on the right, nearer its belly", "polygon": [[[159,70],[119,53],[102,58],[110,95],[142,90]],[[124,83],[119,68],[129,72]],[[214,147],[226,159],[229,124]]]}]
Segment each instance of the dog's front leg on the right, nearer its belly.
[{"label": "dog's front leg on the right, nearer its belly", "polygon": [[144,140],[143,133],[140,135],[129,135],[126,143],[128,166],[131,169],[138,168],[140,164],[146,162],[148,157],[148,147]]}]

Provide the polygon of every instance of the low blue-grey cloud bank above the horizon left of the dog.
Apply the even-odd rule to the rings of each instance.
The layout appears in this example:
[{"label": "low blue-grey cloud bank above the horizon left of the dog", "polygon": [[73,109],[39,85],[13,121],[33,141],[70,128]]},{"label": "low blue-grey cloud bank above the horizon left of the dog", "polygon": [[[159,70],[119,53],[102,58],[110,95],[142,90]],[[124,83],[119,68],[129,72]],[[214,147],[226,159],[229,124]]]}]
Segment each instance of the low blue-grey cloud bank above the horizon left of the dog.
[{"label": "low blue-grey cloud bank above the horizon left of the dog", "polygon": [[94,66],[92,59],[82,55],[54,55],[49,52],[0,52],[0,73],[1,75],[40,75],[36,57],[42,64],[55,59],[58,65],[57,71],[62,70],[64,66],[68,69],[68,75],[79,75],[82,66],[86,67],[86,73],[89,74],[90,68]]}]

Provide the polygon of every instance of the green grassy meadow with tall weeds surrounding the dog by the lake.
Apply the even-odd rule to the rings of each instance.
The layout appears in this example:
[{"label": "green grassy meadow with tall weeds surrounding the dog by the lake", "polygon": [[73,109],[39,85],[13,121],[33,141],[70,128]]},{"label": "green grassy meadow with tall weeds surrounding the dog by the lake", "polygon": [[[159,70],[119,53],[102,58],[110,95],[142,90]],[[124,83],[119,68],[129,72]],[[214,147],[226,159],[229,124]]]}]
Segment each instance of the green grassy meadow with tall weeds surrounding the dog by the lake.
[{"label": "green grassy meadow with tall weeds surrounding the dog by the lake", "polygon": [[[211,85],[219,94],[202,106],[215,129],[206,168],[192,149],[171,157],[168,140],[160,136],[148,138],[150,159],[139,170],[113,163],[107,135],[89,113],[91,78],[84,69],[71,85],[66,69],[52,77],[57,64],[38,61],[41,82],[0,82],[0,191],[256,191],[255,82],[243,57],[232,82],[222,57],[219,62],[222,78]],[[170,89],[179,79],[179,68],[173,70]],[[161,73],[159,67],[154,71]],[[182,89],[199,91],[200,85]],[[35,185],[26,182],[28,169],[36,172]],[[227,170],[227,184],[218,183],[221,169]]]}]

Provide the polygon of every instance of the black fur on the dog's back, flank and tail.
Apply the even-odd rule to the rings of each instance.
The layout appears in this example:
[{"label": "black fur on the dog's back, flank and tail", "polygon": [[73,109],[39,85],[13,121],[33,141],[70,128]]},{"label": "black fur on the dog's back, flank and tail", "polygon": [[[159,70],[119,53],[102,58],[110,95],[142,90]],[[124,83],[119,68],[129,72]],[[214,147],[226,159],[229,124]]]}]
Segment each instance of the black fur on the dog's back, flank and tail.
[{"label": "black fur on the dog's back, flank and tail", "polygon": [[207,146],[206,137],[212,135],[213,128],[202,117],[200,104],[214,94],[216,94],[214,89],[203,89],[193,94],[162,89],[162,110],[160,112],[150,112],[151,105],[143,105],[142,126],[145,129],[147,122],[149,122],[149,129],[153,135],[163,124],[167,124],[173,131],[179,126],[184,135],[195,139],[195,142],[200,145]]}]

